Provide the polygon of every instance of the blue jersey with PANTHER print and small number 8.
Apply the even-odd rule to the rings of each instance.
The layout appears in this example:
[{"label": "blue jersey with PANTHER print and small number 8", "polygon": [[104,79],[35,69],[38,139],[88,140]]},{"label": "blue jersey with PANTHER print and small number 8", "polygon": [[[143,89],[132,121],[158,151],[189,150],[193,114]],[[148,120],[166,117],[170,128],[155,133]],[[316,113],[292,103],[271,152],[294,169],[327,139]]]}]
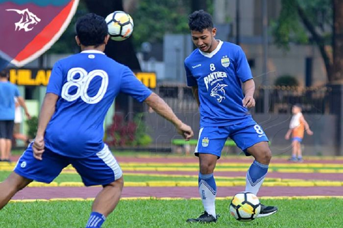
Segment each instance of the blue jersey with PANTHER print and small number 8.
[{"label": "blue jersey with PANTHER print and small number 8", "polygon": [[242,82],[252,78],[240,46],[219,41],[211,53],[194,50],[185,59],[188,86],[198,86],[200,127],[229,126],[251,117],[243,106]]}]

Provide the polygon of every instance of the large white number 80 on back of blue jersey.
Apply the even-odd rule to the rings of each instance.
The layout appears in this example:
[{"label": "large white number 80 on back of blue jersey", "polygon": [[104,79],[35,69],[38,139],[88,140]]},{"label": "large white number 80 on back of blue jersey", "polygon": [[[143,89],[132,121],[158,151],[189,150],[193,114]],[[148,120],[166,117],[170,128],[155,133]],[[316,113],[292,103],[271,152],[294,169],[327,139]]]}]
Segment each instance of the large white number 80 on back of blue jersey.
[{"label": "large white number 80 on back of blue jersey", "polygon": [[[79,75],[78,78],[74,76]],[[101,85],[98,93],[94,97],[89,97],[87,90],[92,79],[96,76],[101,77]],[[72,86],[76,86],[77,91],[75,94],[69,94],[69,89]],[[75,67],[68,71],[67,82],[62,87],[62,98],[67,101],[75,101],[81,97],[82,101],[89,104],[95,104],[101,101],[106,93],[108,86],[108,75],[103,70],[94,70],[89,73],[83,68]]]}]

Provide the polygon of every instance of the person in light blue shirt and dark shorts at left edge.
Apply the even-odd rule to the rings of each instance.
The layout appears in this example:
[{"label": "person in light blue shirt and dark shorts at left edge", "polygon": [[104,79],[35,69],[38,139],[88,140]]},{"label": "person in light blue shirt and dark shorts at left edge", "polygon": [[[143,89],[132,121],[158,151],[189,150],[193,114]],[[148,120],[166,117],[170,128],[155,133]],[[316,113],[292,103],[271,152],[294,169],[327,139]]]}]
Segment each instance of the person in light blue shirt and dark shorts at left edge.
[{"label": "person in light blue shirt and dark shorts at left edge", "polygon": [[27,119],[30,119],[25,101],[20,96],[18,87],[8,81],[8,72],[0,72],[0,161],[10,161],[14,127],[15,98],[24,108]]}]

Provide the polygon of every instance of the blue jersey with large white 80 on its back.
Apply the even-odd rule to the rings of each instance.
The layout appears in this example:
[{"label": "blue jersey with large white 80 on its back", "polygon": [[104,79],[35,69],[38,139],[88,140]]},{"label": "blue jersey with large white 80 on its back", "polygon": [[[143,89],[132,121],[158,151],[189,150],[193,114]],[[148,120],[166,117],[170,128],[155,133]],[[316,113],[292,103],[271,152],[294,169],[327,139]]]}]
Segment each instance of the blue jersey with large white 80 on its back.
[{"label": "blue jersey with large white 80 on its back", "polygon": [[104,148],[103,122],[118,93],[142,102],[151,91],[132,71],[101,51],[82,51],[55,63],[47,93],[59,96],[45,133],[45,146],[69,157]]}]

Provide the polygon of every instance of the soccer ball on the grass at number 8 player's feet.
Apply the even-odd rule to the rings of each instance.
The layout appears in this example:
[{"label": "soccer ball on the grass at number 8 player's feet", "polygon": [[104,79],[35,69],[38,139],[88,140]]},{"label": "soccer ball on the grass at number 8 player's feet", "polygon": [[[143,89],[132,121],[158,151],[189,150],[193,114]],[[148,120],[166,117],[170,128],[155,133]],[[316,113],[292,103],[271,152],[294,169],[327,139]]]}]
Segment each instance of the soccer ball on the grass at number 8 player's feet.
[{"label": "soccer ball on the grass at number 8 player's feet", "polygon": [[261,210],[261,203],[251,192],[237,193],[230,203],[230,213],[241,222],[254,220]]}]

